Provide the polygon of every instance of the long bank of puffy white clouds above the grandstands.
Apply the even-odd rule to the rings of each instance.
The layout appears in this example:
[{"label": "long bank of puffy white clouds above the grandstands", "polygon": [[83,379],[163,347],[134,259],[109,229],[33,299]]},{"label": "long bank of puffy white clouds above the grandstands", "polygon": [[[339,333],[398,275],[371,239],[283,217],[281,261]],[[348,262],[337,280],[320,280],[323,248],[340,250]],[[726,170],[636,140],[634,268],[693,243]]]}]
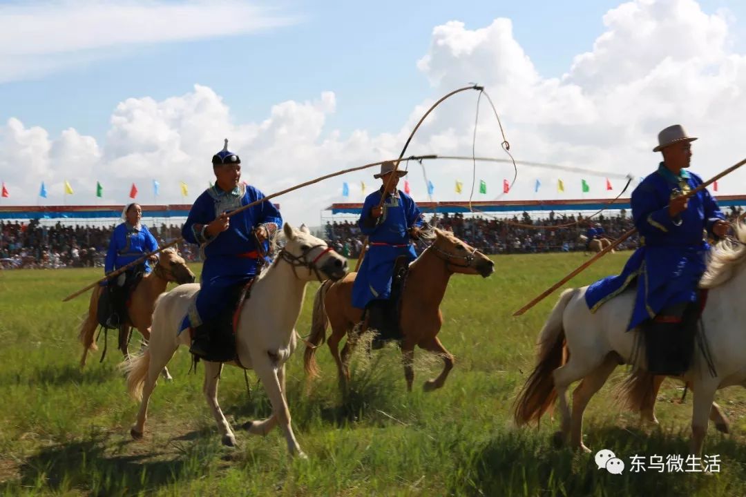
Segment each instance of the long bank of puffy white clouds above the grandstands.
[{"label": "long bank of puffy white clouds above the grandstands", "polygon": [[[210,157],[228,137],[231,150],[242,157],[245,180],[269,194],[330,171],[397,156],[430,104],[469,80],[486,86],[517,159],[599,171],[601,177],[585,177],[592,186],[589,197],[608,196],[604,171],[636,176],[652,171],[659,161],[651,151],[656,133],[676,122],[700,136],[693,170],[702,177],[741,159],[736,153],[744,134],[740,123],[746,111],[746,57],[730,45],[734,19],[703,13],[693,0],[636,0],[610,10],[604,23],[606,32],[592,50],[576,57],[560,78],[542,78],[536,72],[529,54],[513,38],[510,20],[496,19],[475,30],[460,22],[434,28],[430,47],[418,63],[433,84],[432,95],[413,107],[401,129],[389,133],[374,136],[362,123],[351,132],[328,129],[327,117],[337,107],[333,92],[313,101],[280,102],[269,115],[247,120],[232,115],[229,103],[212,89],[197,85],[186,95],[163,101],[123,101],[102,143],[75,130],[49,137],[39,127],[10,119],[0,127],[0,171],[9,171],[3,172],[3,179],[13,200],[21,203],[35,202],[41,180],[50,189],[48,202],[60,203],[64,179],[75,181],[79,203],[93,203],[96,180],[104,183],[104,201],[124,203],[134,181],[142,201],[149,203],[153,179],[160,182],[159,202],[181,203],[185,200],[179,182],[189,185],[186,200],[196,197],[212,179]],[[421,127],[407,155],[471,153],[475,97],[475,92],[467,92],[444,102]],[[476,151],[504,157],[490,112],[483,101]],[[465,183],[465,191],[471,186],[468,163],[431,162],[427,167],[436,200],[458,198],[457,178]],[[419,166],[410,170],[413,193],[425,200]],[[371,191],[373,172],[329,180],[276,201],[289,221],[315,225],[320,209],[343,200],[342,181],[350,185],[349,200],[360,201],[360,181]],[[488,183],[486,199],[496,197],[503,178],[510,177],[509,165],[477,166],[477,181]],[[541,197],[560,197],[554,189],[559,177],[567,189],[564,197],[581,196],[583,175],[523,166],[506,198],[536,198],[536,178],[542,181]],[[721,194],[741,193],[745,179],[746,171],[721,182]]]}]

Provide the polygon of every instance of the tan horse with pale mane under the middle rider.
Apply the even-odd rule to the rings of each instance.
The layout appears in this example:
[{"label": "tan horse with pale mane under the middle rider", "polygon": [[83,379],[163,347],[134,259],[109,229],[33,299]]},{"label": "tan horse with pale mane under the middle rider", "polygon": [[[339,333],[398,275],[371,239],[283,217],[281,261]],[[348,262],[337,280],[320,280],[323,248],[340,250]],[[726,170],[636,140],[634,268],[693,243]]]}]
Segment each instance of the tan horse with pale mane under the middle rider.
[{"label": "tan horse with pale mane under the middle rider", "polygon": [[[445,295],[448,279],[453,273],[480,274],[484,278],[495,270],[487,256],[470,247],[452,233],[434,229],[435,241],[410,264],[407,281],[401,297],[400,327],[404,334],[401,342],[401,355],[404,362],[404,377],[407,390],[412,390],[414,381],[414,348],[439,354],[445,367],[440,375],[425,382],[424,390],[435,390],[445,383],[448,373],[454,367],[454,356],[445,349],[437,336],[443,317],[440,302]],[[332,334],[327,341],[331,355],[336,361],[339,382],[342,387],[350,378],[349,358],[363,326],[355,326],[362,320],[363,311],[352,306],[352,285],[357,273],[349,273],[339,282],[326,282],[316,292],[313,303],[313,321],[308,339],[313,346],[305,352],[306,373],[313,378],[318,376],[316,347],[325,341],[327,324],[331,323]],[[339,355],[339,341],[348,335],[348,340]]]}]

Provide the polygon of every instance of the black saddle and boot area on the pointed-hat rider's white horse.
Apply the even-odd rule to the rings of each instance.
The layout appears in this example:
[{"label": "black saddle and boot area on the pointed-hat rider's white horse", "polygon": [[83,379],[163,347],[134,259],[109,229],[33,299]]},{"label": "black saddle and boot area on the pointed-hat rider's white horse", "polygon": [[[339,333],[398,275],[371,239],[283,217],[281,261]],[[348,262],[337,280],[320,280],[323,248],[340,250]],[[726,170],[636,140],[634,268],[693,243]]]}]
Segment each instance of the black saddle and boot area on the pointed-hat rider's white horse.
[{"label": "black saddle and boot area on the pointed-hat rider's white horse", "polygon": [[[254,278],[251,278],[248,282],[233,285],[228,290],[225,299],[227,311],[217,319],[201,324],[198,333],[206,335],[201,338],[204,340],[201,344],[205,353],[195,354],[192,352],[195,361],[198,361],[198,359],[210,362],[238,361],[236,337],[238,335],[239,317],[243,304],[251,297],[251,286],[253,284]],[[190,341],[194,340],[195,329],[189,328],[189,338]]]}]

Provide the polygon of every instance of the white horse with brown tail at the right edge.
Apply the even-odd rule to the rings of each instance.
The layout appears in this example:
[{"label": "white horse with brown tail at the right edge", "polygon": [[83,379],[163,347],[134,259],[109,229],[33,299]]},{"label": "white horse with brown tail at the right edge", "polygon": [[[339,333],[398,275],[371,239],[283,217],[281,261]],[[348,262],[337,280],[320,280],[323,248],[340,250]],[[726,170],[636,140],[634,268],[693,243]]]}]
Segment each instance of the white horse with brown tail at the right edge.
[{"label": "white horse with brown tail at the right edge", "polygon": [[[746,386],[746,332],[743,330],[742,296],[746,292],[746,227],[737,226],[739,241],[722,241],[709,254],[707,270],[700,288],[709,288],[707,306],[702,314],[703,329],[715,376],[709,373],[706,359],[695,346],[692,367],[683,380],[692,386],[691,450],[702,449],[710,417],[717,422],[719,411],[714,404],[715,391],[731,385]],[[539,420],[559,399],[562,428],[557,436],[570,438],[571,446],[583,445],[583,411],[591,397],[604,385],[618,364],[630,364],[638,330],[627,332],[635,294],[626,291],[609,300],[595,314],[586,306],[586,288],[565,290],[551,311],[539,335],[537,365],[521,390],[515,404],[515,421],[521,425]],[[569,355],[569,358],[568,358]],[[637,354],[639,367],[645,373],[645,350]],[[640,384],[647,379],[647,385]],[[582,380],[572,396],[572,413],[568,408],[570,384]],[[630,405],[643,405],[639,397],[649,394],[653,382],[650,374],[633,376],[624,393]],[[636,384],[637,382],[637,384]]]}]

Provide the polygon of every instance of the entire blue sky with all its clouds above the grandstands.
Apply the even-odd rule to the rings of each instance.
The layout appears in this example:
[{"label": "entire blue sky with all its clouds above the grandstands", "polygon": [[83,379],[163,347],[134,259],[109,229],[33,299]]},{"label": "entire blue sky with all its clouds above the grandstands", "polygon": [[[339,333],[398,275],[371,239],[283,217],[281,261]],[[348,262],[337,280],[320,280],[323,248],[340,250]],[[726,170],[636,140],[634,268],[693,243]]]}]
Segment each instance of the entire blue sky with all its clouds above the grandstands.
[{"label": "entire blue sky with all its clouds above the grandstands", "polygon": [[[251,165],[246,179],[269,193],[397,155],[424,109],[468,82],[486,85],[518,159],[594,169],[600,184],[639,177],[656,163],[657,131],[682,122],[703,138],[695,165],[708,176],[741,159],[742,19],[736,0],[0,0],[0,179],[13,203],[40,202],[41,180],[46,203],[122,203],[131,182],[147,191],[153,179],[160,201],[183,203],[228,136]],[[474,99],[439,109],[410,151],[471,153]],[[484,111],[477,151],[504,156]],[[435,200],[466,200],[452,185],[468,183],[471,166],[428,167]],[[568,191],[554,191],[558,174],[521,168],[506,198],[536,198],[537,179],[541,197],[580,197],[568,174]],[[369,176],[287,197],[283,209],[313,222],[345,200],[342,180],[348,200],[362,200]],[[480,200],[492,200],[512,171],[480,165],[477,176],[490,185]],[[736,178],[727,193],[742,193]],[[593,183],[595,196],[617,193]]]}]

